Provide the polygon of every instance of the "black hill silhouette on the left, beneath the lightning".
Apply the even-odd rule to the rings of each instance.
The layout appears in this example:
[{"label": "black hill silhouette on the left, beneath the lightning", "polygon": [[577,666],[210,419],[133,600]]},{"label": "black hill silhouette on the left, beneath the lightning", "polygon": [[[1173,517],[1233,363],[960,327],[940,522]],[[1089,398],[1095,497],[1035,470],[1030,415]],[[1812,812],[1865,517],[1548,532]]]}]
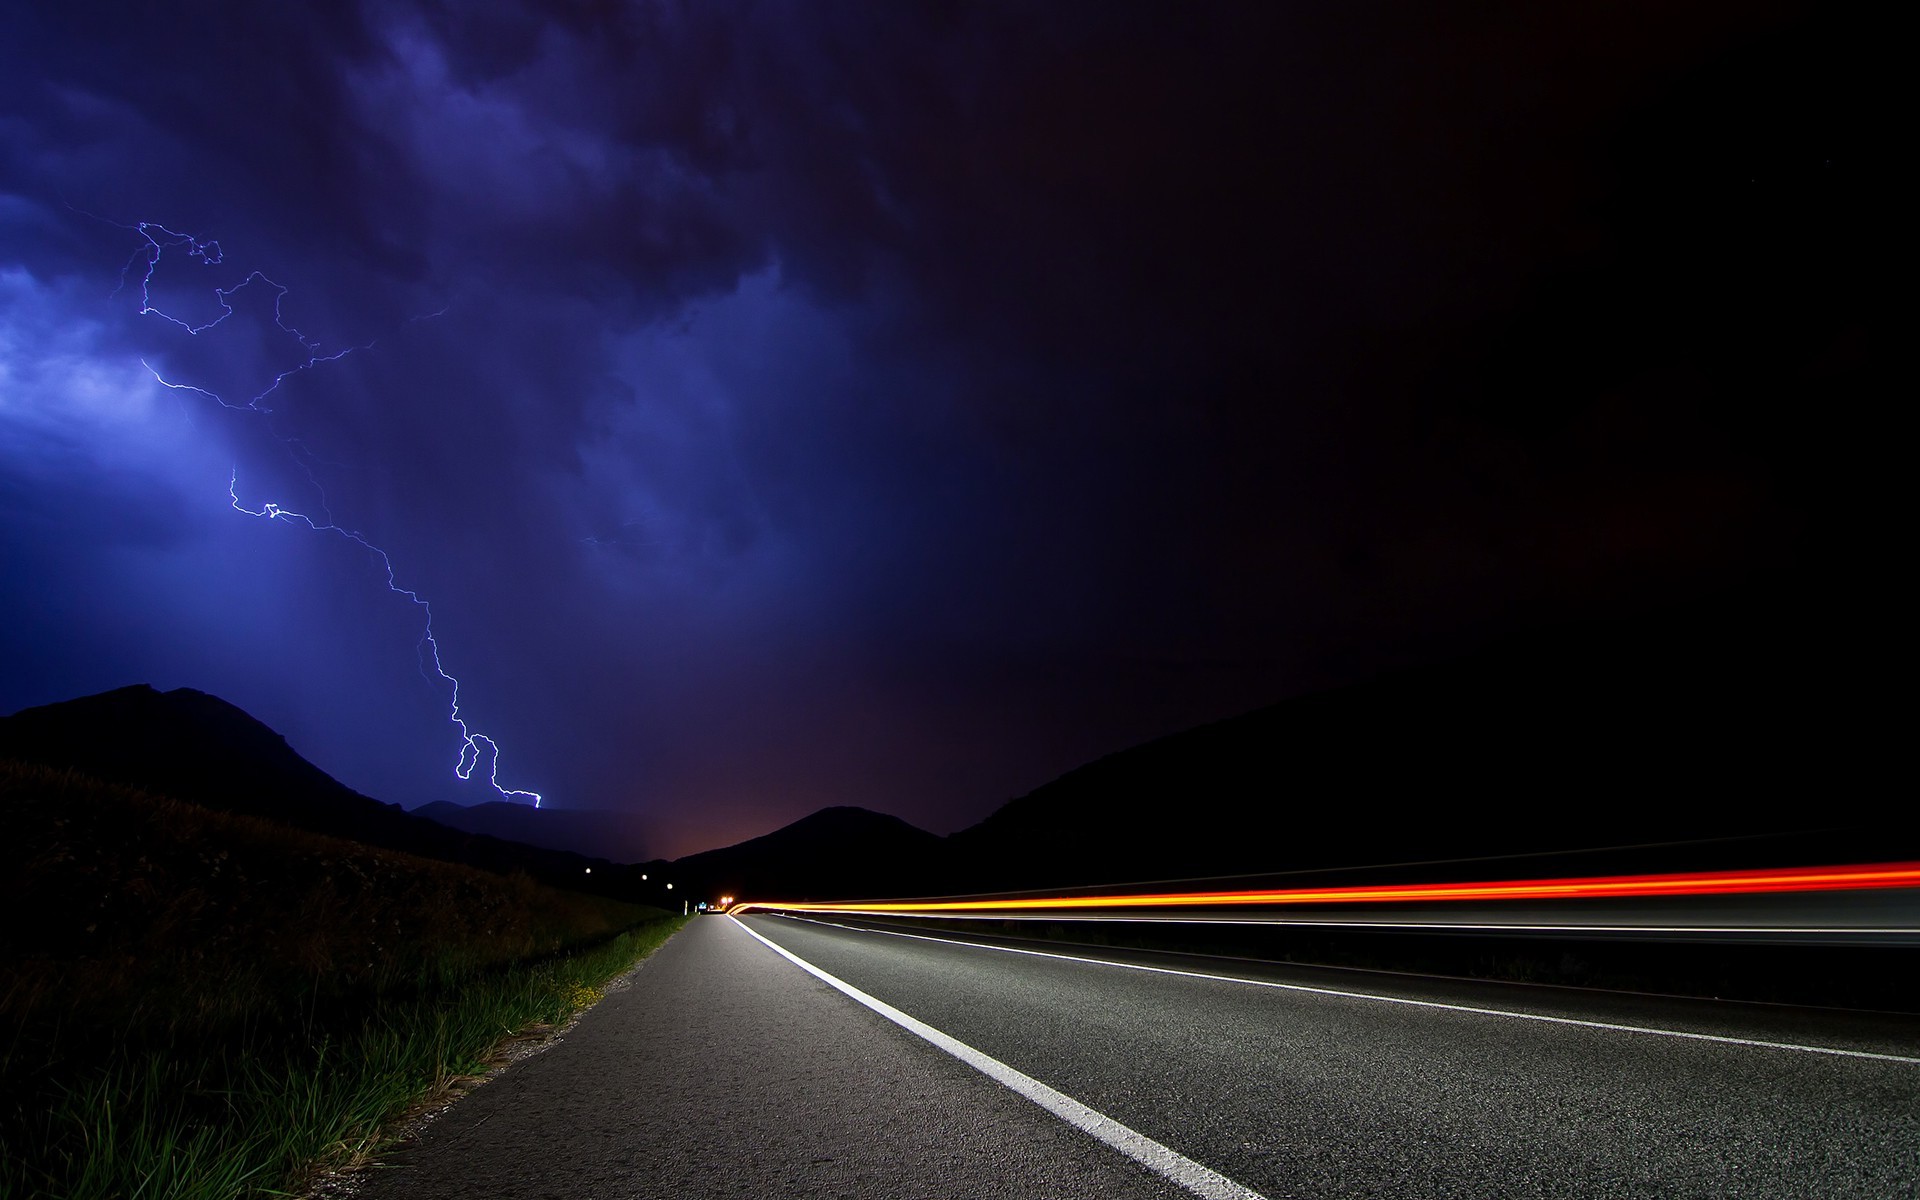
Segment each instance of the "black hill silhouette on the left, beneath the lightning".
[{"label": "black hill silhouette on the left, beneath the lightning", "polygon": [[[449,829],[365,797],[244,710],[190,687],[140,684],[25,708],[0,718],[0,756],[444,862],[522,870],[574,891],[632,891],[601,858]],[[589,866],[601,870],[588,876]]]}]

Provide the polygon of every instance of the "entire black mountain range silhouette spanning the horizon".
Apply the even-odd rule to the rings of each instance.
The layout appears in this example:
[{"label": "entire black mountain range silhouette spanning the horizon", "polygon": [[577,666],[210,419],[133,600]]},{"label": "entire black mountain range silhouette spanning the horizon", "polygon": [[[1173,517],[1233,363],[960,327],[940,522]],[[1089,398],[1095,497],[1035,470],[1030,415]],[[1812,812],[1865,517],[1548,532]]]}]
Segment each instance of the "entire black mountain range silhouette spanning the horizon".
[{"label": "entire black mountain range silhouette spanning the horizon", "polygon": [[1511,874],[1511,858],[1471,860],[1517,854],[1538,874],[1920,858],[1920,820],[1882,781],[1895,714],[1860,684],[1859,647],[1841,653],[1809,622],[1791,603],[1707,603],[1561,626],[1108,755],[950,837],[835,806],[674,862],[568,852],[637,856],[639,818],[401,812],[192,689],[17,712],[0,720],[0,755],[655,904]]}]

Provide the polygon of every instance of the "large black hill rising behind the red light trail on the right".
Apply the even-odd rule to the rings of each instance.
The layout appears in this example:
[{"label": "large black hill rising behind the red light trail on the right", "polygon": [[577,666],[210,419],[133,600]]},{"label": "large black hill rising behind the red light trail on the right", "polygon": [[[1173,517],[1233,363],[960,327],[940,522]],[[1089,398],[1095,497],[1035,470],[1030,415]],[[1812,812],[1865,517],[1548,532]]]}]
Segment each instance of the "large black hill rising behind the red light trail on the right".
[{"label": "large black hill rising behind the red light trail on the right", "polygon": [[[1884,710],[1793,641],[1707,612],[1509,641],[1110,755],[952,835],[952,854],[1008,889],[1809,829],[1830,833],[1747,845],[1920,851],[1907,810],[1876,808]],[[1715,866],[1703,852],[1636,862]]]}]

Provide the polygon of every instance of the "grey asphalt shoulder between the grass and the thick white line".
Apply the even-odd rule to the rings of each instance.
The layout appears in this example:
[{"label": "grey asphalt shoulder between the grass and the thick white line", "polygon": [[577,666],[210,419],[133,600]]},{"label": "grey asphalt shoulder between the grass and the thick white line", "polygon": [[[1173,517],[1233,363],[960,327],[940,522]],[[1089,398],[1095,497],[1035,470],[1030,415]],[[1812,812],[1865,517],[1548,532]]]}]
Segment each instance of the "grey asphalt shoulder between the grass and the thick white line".
[{"label": "grey asphalt shoulder between the grass and the thick white line", "polygon": [[1187,1192],[703,918],[449,1108],[369,1200]]}]

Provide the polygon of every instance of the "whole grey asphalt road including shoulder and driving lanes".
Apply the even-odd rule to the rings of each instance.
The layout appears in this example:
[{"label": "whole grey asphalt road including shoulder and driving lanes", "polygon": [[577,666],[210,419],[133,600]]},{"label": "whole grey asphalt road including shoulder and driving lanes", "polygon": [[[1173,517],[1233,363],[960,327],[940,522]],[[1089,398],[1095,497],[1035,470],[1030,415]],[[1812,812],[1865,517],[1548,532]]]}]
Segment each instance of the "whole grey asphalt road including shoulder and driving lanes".
[{"label": "whole grey asphalt road including shoulder and driving lanes", "polygon": [[1920,1196],[1912,1020],[1075,962],[770,916],[693,922],[365,1194],[1188,1194],[749,929],[1275,1200]]}]

